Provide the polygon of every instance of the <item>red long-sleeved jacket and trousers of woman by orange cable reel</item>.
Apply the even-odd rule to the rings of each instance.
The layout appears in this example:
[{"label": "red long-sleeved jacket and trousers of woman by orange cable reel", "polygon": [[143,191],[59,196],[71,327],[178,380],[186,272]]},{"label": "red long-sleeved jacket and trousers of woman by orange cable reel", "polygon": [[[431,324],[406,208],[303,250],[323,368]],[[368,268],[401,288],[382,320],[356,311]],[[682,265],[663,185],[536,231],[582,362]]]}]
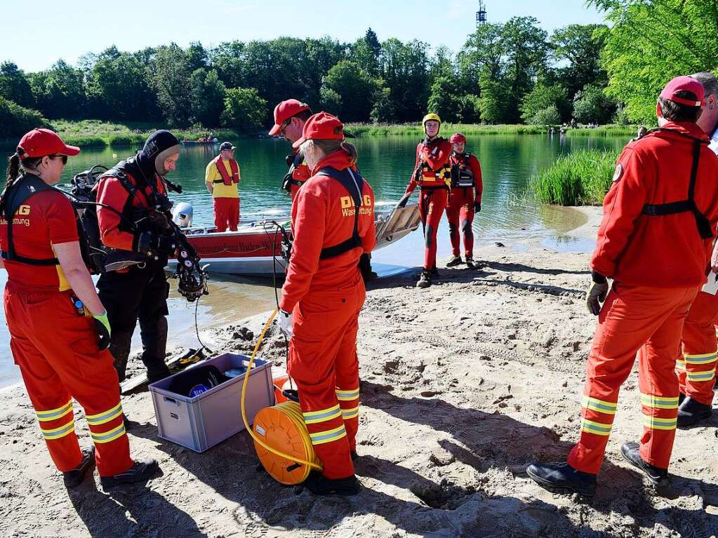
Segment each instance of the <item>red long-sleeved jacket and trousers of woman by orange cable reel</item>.
[{"label": "red long-sleeved jacket and trousers of woman by orange cable reel", "polygon": [[[345,151],[317,164],[354,169]],[[304,422],[327,478],[354,474],[350,450],[359,427],[359,362],[356,352],[364,282],[359,257],[376,242],[374,194],[364,181],[358,232],[362,247],[320,260],[322,248],[352,236],[354,202],[339,181],[314,175],[292,203],[292,260],[279,307],[294,314],[288,370],[297,382]]]}]

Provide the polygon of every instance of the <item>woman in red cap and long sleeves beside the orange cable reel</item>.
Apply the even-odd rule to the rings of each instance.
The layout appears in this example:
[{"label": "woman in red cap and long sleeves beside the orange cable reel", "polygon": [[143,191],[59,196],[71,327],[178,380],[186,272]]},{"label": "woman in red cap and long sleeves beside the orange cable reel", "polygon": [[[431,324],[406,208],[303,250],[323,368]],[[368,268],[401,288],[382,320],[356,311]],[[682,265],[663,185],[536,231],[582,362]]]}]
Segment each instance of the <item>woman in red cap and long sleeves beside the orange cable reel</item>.
[{"label": "woman in red cap and long sleeves beside the orange cable reel", "polygon": [[359,491],[352,456],[359,425],[356,338],[365,293],[357,264],[376,242],[374,194],[335,116],[309,118],[294,147],[312,176],[292,204],[294,246],[279,326],[290,339],[287,369],[323,465],[305,485],[318,495],[352,495]]}]

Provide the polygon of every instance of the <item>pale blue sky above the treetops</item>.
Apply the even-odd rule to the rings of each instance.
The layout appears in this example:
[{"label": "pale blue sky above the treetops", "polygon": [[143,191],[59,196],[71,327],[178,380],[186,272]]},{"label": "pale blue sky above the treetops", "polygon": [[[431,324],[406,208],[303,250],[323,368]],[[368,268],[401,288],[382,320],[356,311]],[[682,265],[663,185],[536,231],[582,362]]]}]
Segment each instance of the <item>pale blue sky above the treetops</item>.
[{"label": "pale blue sky above the treetops", "polygon": [[[475,27],[477,4],[470,0],[35,0],[28,14],[24,2],[15,1],[3,6],[0,61],[37,71],[60,57],[75,64],[85,52],[100,52],[112,44],[134,51],[172,41],[182,47],[192,41],[211,46],[280,35],[330,35],[348,42],[368,27],[380,40],[421,39],[432,47],[444,44],[457,51]],[[485,0],[485,4],[490,22],[532,15],[549,32],[567,24],[602,22],[602,15],[583,0]],[[26,24],[17,24],[21,20]]]}]

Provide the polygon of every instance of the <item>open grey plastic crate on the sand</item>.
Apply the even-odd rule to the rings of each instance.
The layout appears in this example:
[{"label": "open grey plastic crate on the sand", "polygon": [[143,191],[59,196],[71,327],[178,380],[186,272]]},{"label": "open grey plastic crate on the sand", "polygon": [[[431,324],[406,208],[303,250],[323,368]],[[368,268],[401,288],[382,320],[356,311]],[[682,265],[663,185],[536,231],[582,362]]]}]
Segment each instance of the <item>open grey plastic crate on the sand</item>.
[{"label": "open grey plastic crate on the sand", "polygon": [[[220,372],[243,367],[248,357],[233,353],[221,354],[194,366],[213,364]],[[255,367],[247,384],[246,412],[251,424],[264,407],[274,405],[271,364],[255,359]],[[184,370],[187,372],[188,369]],[[204,452],[217,443],[244,429],[240,397],[244,375],[233,377],[207,392],[190,398],[169,391],[172,378],[179,372],[149,385],[159,436],[163,439]]]}]

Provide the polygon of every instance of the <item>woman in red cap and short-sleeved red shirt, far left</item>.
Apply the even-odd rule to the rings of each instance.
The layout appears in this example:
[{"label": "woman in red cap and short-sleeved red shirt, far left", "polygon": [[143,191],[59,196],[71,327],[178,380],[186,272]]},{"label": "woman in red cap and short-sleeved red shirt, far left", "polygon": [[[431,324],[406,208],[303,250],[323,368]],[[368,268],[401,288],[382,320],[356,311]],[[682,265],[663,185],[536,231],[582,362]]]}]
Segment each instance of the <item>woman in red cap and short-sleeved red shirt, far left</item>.
[{"label": "woman in red cap and short-sleeved red shirt, far left", "polygon": [[[144,481],[158,466],[130,458],[107,312],[80,253],[73,206],[52,187],[67,157],[79,153],[49,129],[34,129],[9,159],[0,194],[5,317],[15,364],[65,485],[78,486],[96,461],[103,486],[113,486]],[[73,398],[94,447],[80,450]]]}]

